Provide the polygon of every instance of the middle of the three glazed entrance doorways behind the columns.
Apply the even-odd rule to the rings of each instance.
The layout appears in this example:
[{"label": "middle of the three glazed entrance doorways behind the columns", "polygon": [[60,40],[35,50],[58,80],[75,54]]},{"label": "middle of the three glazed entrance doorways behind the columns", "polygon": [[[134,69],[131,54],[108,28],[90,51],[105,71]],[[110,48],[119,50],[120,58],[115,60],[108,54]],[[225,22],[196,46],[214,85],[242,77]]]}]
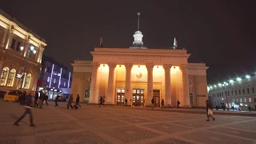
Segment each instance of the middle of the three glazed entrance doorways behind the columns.
[{"label": "middle of the three glazed entrance doorways behind the columns", "polygon": [[133,90],[133,106],[144,106],[144,90]]}]

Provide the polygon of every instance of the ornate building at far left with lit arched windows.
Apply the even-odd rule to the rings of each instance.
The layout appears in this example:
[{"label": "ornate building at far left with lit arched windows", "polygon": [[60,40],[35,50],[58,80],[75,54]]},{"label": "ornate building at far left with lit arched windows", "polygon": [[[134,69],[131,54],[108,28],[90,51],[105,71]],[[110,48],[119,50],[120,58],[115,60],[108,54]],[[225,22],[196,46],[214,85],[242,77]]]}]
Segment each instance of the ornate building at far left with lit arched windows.
[{"label": "ornate building at far left with lit arched windows", "polygon": [[43,38],[0,10],[0,90],[36,90],[45,46]]}]

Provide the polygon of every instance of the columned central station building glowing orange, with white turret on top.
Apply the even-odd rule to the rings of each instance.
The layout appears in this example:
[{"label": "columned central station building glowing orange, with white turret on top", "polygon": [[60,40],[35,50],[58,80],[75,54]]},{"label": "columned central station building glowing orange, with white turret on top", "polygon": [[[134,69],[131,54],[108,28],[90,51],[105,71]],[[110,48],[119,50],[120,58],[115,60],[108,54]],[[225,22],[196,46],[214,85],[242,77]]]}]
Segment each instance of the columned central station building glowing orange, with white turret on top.
[{"label": "columned central station building glowing orange, with white turret on top", "polygon": [[[84,102],[98,104],[102,96],[109,105],[205,106],[207,95],[204,63],[188,63],[186,50],[147,49],[142,32],[134,34],[130,48],[94,48],[93,61],[74,61],[71,93]],[[74,98],[75,99],[75,98]]]}]

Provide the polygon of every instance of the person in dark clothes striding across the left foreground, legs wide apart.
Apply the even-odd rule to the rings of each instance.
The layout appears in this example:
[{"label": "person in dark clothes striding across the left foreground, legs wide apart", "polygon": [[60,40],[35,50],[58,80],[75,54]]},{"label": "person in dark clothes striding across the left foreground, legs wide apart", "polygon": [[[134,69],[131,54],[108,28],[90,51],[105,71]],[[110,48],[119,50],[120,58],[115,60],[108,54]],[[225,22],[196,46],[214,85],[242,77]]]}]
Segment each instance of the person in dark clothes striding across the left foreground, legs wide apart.
[{"label": "person in dark clothes striding across the left foreground, legs wide apart", "polygon": [[26,116],[26,114],[30,114],[30,126],[35,126],[33,122],[33,114],[32,114],[32,94],[31,92],[26,94],[26,99],[25,99],[25,112],[22,114],[21,118],[18,118],[16,122],[14,122],[15,126],[19,126],[18,122],[22,120]]}]

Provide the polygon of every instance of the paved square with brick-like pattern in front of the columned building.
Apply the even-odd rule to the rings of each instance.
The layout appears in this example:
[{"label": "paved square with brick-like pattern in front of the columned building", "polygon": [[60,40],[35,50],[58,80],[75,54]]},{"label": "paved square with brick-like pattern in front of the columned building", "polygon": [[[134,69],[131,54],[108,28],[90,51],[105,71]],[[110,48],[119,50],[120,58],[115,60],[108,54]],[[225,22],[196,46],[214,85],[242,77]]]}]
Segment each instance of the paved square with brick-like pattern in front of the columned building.
[{"label": "paved square with brick-like pattern in front of the columned building", "polygon": [[159,110],[137,110],[121,106],[81,104],[79,110],[66,109],[66,102],[54,102],[43,109],[33,108],[36,127],[17,102],[0,101],[1,144],[249,144],[256,143],[255,117],[215,115]]}]

